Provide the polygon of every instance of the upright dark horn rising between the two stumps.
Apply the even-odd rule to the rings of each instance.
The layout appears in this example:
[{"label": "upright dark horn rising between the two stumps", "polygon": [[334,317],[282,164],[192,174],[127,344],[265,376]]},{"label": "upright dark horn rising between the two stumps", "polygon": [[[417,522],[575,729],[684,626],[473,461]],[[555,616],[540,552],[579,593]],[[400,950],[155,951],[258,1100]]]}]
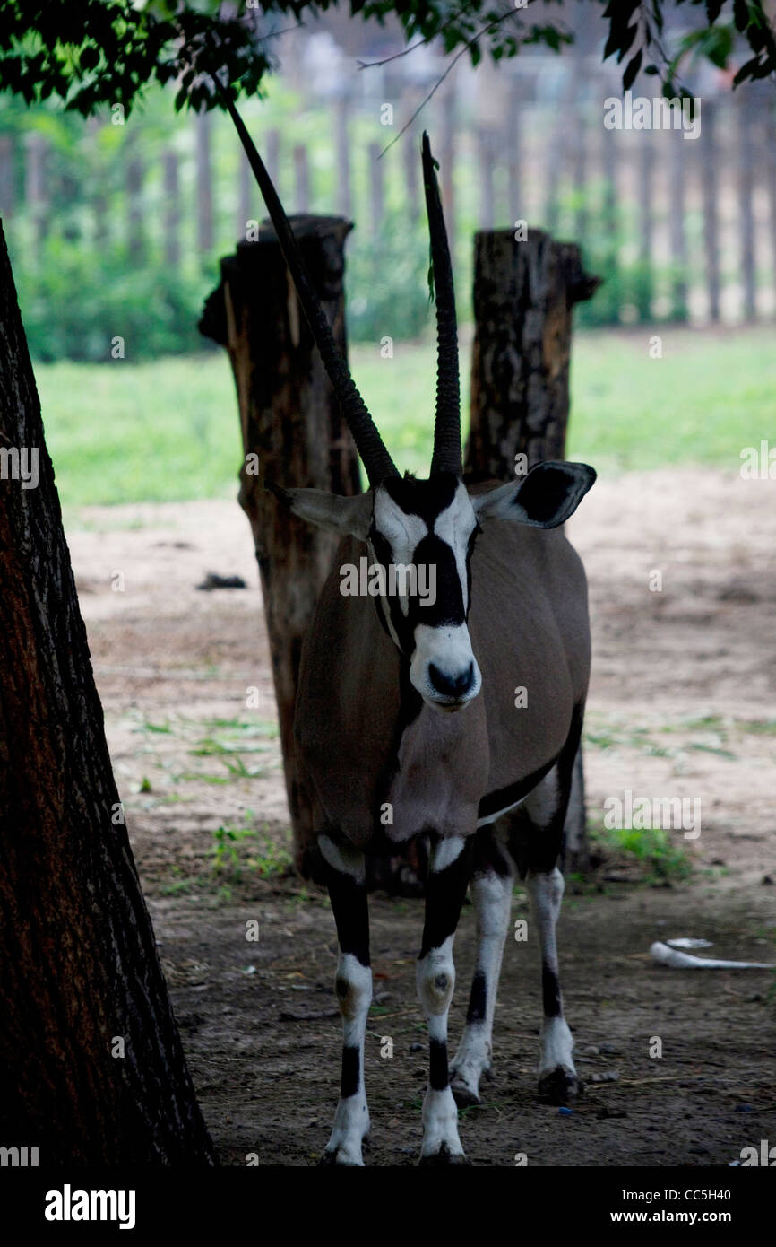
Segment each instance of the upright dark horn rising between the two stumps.
[{"label": "upright dark horn rising between the two stumps", "polygon": [[456,296],[452,287],[452,264],[442,201],[436,180],[436,161],[431,155],[428,135],[423,131],[423,187],[426,213],[431,234],[431,264],[436,296],[436,420],[431,471],[453,471],[461,475],[461,393],[458,383],[458,328]]}]

